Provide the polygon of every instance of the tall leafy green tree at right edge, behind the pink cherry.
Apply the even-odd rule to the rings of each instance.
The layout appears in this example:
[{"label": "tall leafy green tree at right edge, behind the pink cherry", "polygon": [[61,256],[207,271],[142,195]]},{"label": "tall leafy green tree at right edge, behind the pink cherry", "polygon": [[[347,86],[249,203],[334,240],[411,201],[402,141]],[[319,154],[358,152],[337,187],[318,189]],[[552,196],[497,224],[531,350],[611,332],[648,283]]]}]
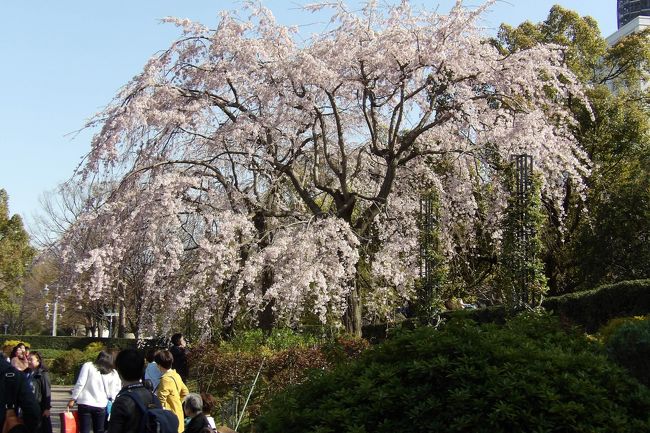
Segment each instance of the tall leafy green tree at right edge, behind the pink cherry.
[{"label": "tall leafy green tree at right edge, behind the pink cherry", "polygon": [[650,99],[642,85],[650,78],[648,34],[609,47],[593,18],[560,6],[544,22],[500,28],[496,43],[504,53],[560,45],[591,107],[587,112],[569,101],[577,121],[572,133],[593,161],[586,201],[571,184],[560,208],[544,200],[549,215],[544,261],[552,293],[650,275]]}]

